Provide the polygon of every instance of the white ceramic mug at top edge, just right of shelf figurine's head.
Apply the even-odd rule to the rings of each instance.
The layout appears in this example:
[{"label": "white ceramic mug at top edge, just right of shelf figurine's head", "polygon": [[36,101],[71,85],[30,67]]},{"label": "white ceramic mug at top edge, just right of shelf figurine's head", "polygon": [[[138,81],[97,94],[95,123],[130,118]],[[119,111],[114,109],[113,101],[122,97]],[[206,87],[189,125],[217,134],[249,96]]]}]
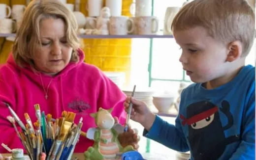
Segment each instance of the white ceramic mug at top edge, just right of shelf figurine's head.
[{"label": "white ceramic mug at top edge, just right of shelf figurine's head", "polygon": [[111,16],[122,15],[122,0],[106,0],[106,6],[109,7]]}]

